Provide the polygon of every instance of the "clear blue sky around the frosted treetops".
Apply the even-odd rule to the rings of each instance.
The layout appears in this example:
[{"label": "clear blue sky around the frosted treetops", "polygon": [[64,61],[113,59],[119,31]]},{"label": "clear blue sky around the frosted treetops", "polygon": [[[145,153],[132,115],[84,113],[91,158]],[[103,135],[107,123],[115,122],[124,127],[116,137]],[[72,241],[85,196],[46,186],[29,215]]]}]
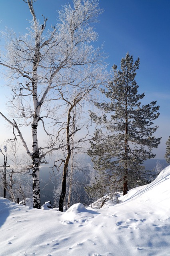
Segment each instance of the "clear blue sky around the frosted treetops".
[{"label": "clear blue sky around the frosted treetops", "polygon": [[[37,18],[41,20],[43,14],[48,17],[49,26],[56,24],[56,10],[68,2],[72,1],[37,0],[34,4]],[[127,52],[134,60],[140,57],[136,81],[139,92],[146,94],[145,103],[158,100],[160,105],[160,117],[156,120],[160,128],[156,136],[163,138],[154,153],[156,158],[164,158],[165,142],[170,136],[170,0],[99,0],[99,4],[104,13],[95,25],[99,33],[97,44],[104,43],[104,50],[109,54],[109,69],[113,64],[120,65]],[[0,30],[8,26],[25,33],[29,19],[32,16],[22,0],[0,1]],[[3,100],[4,90],[1,92]],[[0,129],[2,133],[2,124]]]}]

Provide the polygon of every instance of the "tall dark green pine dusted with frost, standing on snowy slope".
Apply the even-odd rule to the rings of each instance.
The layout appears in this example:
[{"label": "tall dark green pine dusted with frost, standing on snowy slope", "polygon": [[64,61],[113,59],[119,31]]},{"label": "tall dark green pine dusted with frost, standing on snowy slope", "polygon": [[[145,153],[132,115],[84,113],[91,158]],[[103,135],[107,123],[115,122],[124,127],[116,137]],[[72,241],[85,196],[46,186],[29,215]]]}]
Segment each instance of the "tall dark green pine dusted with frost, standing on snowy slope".
[{"label": "tall dark green pine dusted with frost, standing on snowy slope", "polygon": [[121,70],[117,70],[114,64],[113,82],[102,89],[110,102],[96,102],[96,106],[106,114],[97,116],[90,112],[98,127],[88,150],[98,172],[91,190],[101,182],[109,188],[118,182],[125,195],[128,188],[142,180],[142,164],[155,156],[152,148],[157,148],[160,143],[161,138],[153,136],[158,126],[153,126],[152,122],[159,116],[159,106],[156,106],[156,101],[141,105],[140,100],[145,94],[138,94],[134,80],[139,63],[139,58],[134,62],[133,56],[127,53],[121,60]]}]

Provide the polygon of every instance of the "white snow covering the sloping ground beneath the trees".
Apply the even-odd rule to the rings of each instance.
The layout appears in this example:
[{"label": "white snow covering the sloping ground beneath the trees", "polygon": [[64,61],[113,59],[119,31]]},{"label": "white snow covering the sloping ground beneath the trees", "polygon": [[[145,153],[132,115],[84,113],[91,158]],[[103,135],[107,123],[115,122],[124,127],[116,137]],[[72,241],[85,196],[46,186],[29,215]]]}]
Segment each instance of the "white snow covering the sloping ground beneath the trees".
[{"label": "white snow covering the sloping ground beneath the trees", "polygon": [[1,256],[170,255],[170,166],[104,208],[38,210],[0,198]]}]

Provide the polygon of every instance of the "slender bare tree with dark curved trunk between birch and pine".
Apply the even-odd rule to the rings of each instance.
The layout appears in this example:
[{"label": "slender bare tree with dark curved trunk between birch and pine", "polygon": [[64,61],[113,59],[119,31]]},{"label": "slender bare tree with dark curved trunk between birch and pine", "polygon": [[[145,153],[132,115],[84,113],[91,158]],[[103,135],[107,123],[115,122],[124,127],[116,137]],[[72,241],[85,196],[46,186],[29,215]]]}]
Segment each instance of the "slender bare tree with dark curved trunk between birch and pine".
[{"label": "slender bare tree with dark curved trunk between birch and pine", "polygon": [[[80,121],[82,117],[81,115],[82,102],[84,102],[85,100],[88,100],[89,98],[92,99],[93,96],[90,94],[91,93],[93,94],[94,89],[98,84],[98,78],[101,77],[100,72],[98,73],[98,76],[95,75],[93,77],[89,73],[89,70],[86,70],[86,71],[84,70],[83,74],[85,73],[86,73],[86,76],[85,76],[86,82],[88,80],[87,84],[89,84],[89,85],[86,84],[86,88],[84,87],[84,82],[85,82],[84,75],[82,76],[81,74],[78,74],[78,78],[76,79],[79,81],[78,84],[76,84],[76,88],[75,86],[73,88],[70,86],[69,92],[67,93],[65,91],[66,90],[65,88],[67,88],[66,86],[64,86],[64,88],[63,87],[61,87],[60,89],[58,88],[58,92],[61,95],[61,99],[67,105],[67,118],[66,118],[66,121],[63,122],[62,128],[60,129],[60,130],[64,129],[64,137],[66,138],[66,141],[64,142],[64,144],[67,145],[66,148],[63,148],[65,158],[61,160],[62,162],[64,162],[64,166],[63,166],[63,177],[62,177],[62,191],[61,191],[60,200],[59,200],[60,211],[63,211],[63,203],[66,196],[66,178],[67,178],[68,164],[70,161],[72,151],[74,151],[75,149],[78,150],[78,148],[81,147],[80,145],[82,144],[82,142],[86,142],[87,140],[90,140],[90,138],[92,138],[92,136],[90,136],[88,133],[88,124],[86,124],[87,125],[86,133],[84,134],[84,136],[82,136],[82,138],[75,141],[74,147],[72,147],[73,142],[75,140],[74,135],[77,134],[78,131],[82,130],[83,126],[85,126],[85,123]],[[94,70],[93,74],[95,73],[96,73],[96,70]],[[104,82],[104,79],[102,80]],[[71,77],[69,82],[70,82],[70,85],[72,85]],[[66,116],[66,114],[64,116]],[[78,119],[80,121],[79,123],[77,122]]]}]

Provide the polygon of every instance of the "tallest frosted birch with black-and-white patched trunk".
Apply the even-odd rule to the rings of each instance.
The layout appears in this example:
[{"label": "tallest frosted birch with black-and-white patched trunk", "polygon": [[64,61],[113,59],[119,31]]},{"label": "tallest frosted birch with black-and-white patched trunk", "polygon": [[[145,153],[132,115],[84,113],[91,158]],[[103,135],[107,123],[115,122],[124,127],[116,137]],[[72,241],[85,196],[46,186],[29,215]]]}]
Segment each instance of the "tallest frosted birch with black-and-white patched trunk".
[{"label": "tallest frosted birch with black-and-white patched trunk", "polygon": [[[48,19],[43,16],[40,23],[36,17],[35,1],[23,2],[28,4],[32,15],[27,33],[20,36],[13,30],[2,33],[6,38],[6,50],[4,55],[1,53],[0,65],[6,68],[11,81],[9,86],[13,96],[8,109],[12,119],[0,114],[13,127],[14,137],[18,134],[30,156],[34,208],[40,208],[40,164],[46,162],[47,154],[65,146],[59,144],[56,136],[56,127],[60,125],[58,88],[64,86],[65,81],[68,84],[67,74],[72,76],[69,86],[83,87],[84,90],[89,78],[91,82],[94,78],[95,86],[101,83],[99,74],[104,69],[103,56],[92,42],[98,36],[93,24],[98,22],[102,10],[97,0],[73,0],[73,7],[66,4],[58,11],[58,24],[47,30]],[[77,81],[77,74],[81,74],[81,80]],[[56,99],[59,100],[57,104],[52,103]],[[31,128],[32,149],[24,137],[23,130],[27,127]],[[50,138],[50,143],[45,145],[38,140],[41,127]]]}]

